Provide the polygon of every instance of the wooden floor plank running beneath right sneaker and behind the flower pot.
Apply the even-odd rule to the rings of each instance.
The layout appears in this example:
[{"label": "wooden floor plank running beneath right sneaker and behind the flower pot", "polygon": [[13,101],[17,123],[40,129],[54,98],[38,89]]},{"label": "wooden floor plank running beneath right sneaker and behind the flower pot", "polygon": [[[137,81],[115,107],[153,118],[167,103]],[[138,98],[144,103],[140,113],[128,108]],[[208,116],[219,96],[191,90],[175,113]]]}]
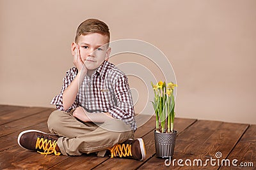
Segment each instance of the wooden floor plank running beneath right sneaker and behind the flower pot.
[{"label": "wooden floor plank running beneath right sneaker and behind the flower pot", "polygon": [[[183,119],[176,118],[175,120],[175,129],[178,133],[182,133],[184,129],[189,127],[189,125],[193,124],[196,120],[194,119]],[[155,126],[154,126],[155,127]],[[155,141],[154,141],[154,132],[151,131],[146,136],[143,137],[145,142],[145,148],[147,152],[146,159],[144,161],[138,161],[134,159],[108,159],[99,166],[95,167],[95,169],[136,169],[143,164],[143,162],[147,162],[152,155],[155,153]]]}]

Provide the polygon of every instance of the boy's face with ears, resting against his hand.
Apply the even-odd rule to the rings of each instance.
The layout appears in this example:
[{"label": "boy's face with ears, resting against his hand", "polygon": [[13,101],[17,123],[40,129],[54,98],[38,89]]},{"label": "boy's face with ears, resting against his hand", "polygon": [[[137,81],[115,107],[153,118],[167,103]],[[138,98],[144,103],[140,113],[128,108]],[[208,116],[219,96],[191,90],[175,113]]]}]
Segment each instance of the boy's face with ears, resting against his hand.
[{"label": "boy's face with ears, resting against his hand", "polygon": [[[111,48],[108,47],[108,36],[99,33],[81,35],[78,38],[81,60],[88,72],[95,71],[104,60],[108,60]],[[72,52],[76,50],[76,43],[72,43]]]}]

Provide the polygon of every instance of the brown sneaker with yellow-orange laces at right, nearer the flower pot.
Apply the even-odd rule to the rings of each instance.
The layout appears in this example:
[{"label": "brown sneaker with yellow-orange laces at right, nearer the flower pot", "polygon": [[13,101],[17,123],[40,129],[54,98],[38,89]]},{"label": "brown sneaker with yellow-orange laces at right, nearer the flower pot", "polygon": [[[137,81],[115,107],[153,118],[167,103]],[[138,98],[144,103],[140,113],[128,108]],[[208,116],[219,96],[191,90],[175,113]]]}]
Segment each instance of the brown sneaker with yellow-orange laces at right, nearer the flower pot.
[{"label": "brown sneaker with yellow-orange laces at right, nearer the flower pot", "polygon": [[144,141],[141,138],[129,139],[124,143],[116,144],[109,148],[111,158],[113,157],[127,157],[131,159],[144,160],[146,157],[146,150]]}]

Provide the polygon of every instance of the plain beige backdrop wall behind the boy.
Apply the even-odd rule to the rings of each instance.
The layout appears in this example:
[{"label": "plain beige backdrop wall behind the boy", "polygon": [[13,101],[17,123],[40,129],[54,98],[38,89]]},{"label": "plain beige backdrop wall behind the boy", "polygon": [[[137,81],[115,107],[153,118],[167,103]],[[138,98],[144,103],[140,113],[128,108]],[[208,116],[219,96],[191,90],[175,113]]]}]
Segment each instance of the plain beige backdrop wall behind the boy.
[{"label": "plain beige backdrop wall behind the boy", "polygon": [[[86,18],[106,22],[112,41],[141,39],[168,57],[179,85],[177,117],[256,124],[255,0],[0,0],[0,104],[52,107]],[[111,59],[127,60],[154,72],[138,55]],[[140,112],[145,87],[132,76],[129,81]]]}]

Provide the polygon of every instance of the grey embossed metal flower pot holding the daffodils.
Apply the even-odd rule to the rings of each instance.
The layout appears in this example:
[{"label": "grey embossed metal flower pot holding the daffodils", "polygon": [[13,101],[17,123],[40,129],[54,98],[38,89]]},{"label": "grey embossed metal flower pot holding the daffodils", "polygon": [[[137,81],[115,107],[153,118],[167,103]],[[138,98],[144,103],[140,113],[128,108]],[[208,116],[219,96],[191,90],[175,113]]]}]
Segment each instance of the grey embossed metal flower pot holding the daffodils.
[{"label": "grey embossed metal flower pot holding the daffodils", "polygon": [[173,156],[177,131],[172,133],[159,133],[154,131],[156,156],[170,158]]}]

